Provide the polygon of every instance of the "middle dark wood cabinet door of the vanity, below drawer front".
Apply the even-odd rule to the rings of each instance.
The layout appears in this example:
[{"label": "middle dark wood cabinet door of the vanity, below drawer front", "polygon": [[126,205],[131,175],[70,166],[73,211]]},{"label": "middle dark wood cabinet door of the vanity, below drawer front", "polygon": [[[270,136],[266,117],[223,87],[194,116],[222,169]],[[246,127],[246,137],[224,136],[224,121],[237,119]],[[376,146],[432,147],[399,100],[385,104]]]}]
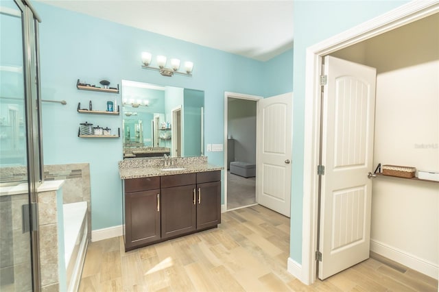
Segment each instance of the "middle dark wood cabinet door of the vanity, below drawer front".
[{"label": "middle dark wood cabinet door of the vanity, below drawer front", "polygon": [[195,230],[195,184],[161,189],[162,238],[187,234]]}]

